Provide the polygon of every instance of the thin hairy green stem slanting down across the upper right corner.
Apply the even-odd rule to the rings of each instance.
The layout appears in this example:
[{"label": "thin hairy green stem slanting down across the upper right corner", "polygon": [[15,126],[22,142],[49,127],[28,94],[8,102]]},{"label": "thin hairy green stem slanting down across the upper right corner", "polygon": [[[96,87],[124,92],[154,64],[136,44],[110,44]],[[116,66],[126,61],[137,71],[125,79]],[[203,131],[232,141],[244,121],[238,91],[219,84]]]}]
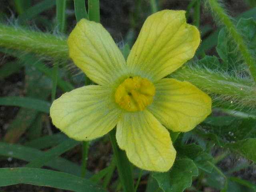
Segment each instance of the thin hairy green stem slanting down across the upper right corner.
[{"label": "thin hairy green stem slanting down across the upper right corner", "polygon": [[231,36],[234,38],[234,41],[238,45],[238,49],[242,53],[242,56],[246,64],[248,65],[252,78],[254,79],[254,82],[256,82],[256,61],[254,60],[250,50],[246,46],[246,43],[244,42],[241,34],[238,32],[238,30],[236,30],[236,27],[229,18],[228,14],[226,14],[225,10],[220,6],[220,4],[216,0],[206,1],[210,5],[214,13],[218,15],[222,23],[226,26]]}]

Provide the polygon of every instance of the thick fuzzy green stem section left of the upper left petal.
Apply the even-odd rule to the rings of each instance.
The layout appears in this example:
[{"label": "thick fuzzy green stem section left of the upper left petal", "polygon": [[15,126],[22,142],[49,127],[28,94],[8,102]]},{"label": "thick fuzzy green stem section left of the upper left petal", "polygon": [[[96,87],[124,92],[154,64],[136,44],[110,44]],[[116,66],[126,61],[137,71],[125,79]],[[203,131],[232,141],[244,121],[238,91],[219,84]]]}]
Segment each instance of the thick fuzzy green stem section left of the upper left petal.
[{"label": "thick fuzzy green stem section left of the upper left petal", "polygon": [[68,59],[65,37],[0,24],[0,46]]}]

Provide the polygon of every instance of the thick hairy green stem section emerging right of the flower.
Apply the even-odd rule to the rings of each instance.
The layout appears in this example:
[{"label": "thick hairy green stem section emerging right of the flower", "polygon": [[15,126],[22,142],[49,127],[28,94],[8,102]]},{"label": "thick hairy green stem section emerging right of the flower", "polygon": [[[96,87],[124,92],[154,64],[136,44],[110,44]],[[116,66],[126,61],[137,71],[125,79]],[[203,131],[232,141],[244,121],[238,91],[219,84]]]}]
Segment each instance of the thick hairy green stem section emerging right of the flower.
[{"label": "thick hairy green stem section emerging right of the flower", "polygon": [[209,93],[239,100],[242,106],[256,106],[256,86],[249,80],[234,78],[228,74],[196,66],[180,68],[170,77],[191,82]]}]

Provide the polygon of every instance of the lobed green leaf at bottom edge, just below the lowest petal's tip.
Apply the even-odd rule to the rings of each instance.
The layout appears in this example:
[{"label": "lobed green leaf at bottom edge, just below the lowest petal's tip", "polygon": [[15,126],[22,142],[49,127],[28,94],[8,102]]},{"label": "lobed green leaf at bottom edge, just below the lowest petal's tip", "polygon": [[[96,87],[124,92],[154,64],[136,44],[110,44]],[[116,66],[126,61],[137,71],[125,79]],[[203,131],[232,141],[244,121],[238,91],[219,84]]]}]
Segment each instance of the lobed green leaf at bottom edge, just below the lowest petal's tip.
[{"label": "lobed green leaf at bottom edge, just below the lowest petal's tip", "polygon": [[192,177],[198,176],[198,169],[190,159],[179,159],[169,172],[153,173],[164,192],[183,192],[192,184]]}]

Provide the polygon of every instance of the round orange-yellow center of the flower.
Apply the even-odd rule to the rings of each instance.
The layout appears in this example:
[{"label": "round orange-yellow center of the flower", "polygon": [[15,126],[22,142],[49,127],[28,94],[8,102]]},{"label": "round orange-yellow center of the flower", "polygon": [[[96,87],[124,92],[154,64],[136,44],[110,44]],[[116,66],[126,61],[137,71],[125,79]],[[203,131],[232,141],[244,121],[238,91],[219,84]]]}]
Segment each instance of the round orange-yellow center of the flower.
[{"label": "round orange-yellow center of the flower", "polygon": [[156,90],[152,82],[146,78],[132,77],[122,82],[115,93],[115,100],[127,111],[144,110],[153,102]]}]

